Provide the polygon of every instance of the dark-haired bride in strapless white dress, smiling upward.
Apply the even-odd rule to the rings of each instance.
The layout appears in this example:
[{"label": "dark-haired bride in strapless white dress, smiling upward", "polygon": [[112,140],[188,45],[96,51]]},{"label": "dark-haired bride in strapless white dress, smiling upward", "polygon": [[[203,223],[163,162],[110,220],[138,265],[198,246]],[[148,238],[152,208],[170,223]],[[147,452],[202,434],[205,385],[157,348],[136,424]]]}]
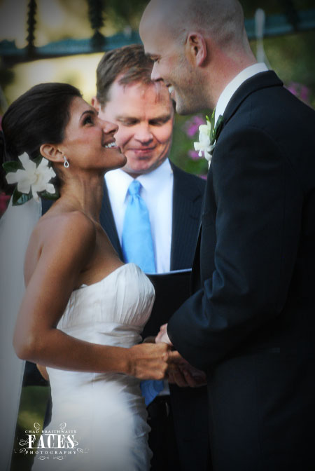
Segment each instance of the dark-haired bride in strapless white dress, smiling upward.
[{"label": "dark-haired bride in strapless white dress, smiling upward", "polygon": [[[34,453],[33,469],[148,470],[149,427],[139,382],[166,376],[169,347],[140,343],[153,306],[153,286],[139,267],[120,261],[99,224],[104,172],[126,162],[115,143],[118,128],[99,119],[79,91],[64,83],[31,88],[10,105],[1,125],[6,178],[18,183],[1,228],[22,214],[36,214],[38,219],[38,193],[60,193],[29,231],[26,289],[14,338],[15,319],[7,308],[1,316],[3,341],[10,344],[13,338],[20,359],[47,367],[52,390],[48,432],[55,431],[56,437],[62,430],[73,432],[67,446],[73,453],[64,452],[63,459]],[[22,235],[27,242],[27,226],[22,219],[18,224],[8,239]],[[4,290],[5,297],[16,302],[17,278]],[[12,418],[22,369],[11,356],[1,366],[1,379],[10,369],[18,382],[15,388],[10,389],[10,381],[4,386],[7,402],[2,402],[1,411]],[[45,432],[41,444],[55,452]],[[67,447],[60,440],[57,448],[64,451]]]}]

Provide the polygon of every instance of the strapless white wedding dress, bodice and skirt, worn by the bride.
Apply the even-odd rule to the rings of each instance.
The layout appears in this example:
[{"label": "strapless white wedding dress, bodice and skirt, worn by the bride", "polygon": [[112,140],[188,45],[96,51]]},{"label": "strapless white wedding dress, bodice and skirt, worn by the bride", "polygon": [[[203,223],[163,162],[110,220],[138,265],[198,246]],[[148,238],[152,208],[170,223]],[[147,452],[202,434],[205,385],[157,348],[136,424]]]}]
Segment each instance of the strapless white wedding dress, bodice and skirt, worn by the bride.
[{"label": "strapless white wedding dress, bodice and skirt, worn by the bride", "polygon": [[[141,342],[154,296],[141,269],[125,264],[104,280],[73,291],[57,328],[87,342],[131,347]],[[150,427],[137,378],[52,368],[48,374],[52,421],[43,431],[46,447],[37,449],[32,470],[150,469]],[[54,431],[48,446],[47,433]]]}]

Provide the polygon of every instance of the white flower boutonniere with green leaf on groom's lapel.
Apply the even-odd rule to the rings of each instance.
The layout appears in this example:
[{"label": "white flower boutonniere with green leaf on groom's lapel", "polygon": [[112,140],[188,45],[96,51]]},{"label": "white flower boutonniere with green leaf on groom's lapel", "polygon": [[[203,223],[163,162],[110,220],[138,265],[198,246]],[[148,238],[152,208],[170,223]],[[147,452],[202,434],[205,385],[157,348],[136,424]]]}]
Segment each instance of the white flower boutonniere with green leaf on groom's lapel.
[{"label": "white flower boutonniere with green leaf on groom's lapel", "polygon": [[218,121],[216,121],[216,125],[214,126],[215,112],[216,110],[214,109],[211,119],[209,119],[209,116],[206,116],[207,124],[201,124],[199,127],[199,142],[194,142],[195,151],[199,151],[198,155],[200,157],[202,157],[202,152],[204,153],[204,158],[208,161],[209,168],[216,142],[223,128],[222,115],[218,117]]}]

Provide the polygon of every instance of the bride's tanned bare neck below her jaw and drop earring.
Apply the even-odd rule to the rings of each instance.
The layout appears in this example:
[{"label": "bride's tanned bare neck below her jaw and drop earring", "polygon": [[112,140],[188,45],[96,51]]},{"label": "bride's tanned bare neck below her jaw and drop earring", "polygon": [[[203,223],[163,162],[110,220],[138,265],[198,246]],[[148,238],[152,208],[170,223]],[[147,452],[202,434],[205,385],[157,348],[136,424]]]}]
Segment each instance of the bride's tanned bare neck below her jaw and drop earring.
[{"label": "bride's tanned bare neck below her jaw and drop earring", "polygon": [[99,222],[104,193],[104,176],[69,179],[60,189],[60,203],[73,210],[84,212],[88,217]]}]

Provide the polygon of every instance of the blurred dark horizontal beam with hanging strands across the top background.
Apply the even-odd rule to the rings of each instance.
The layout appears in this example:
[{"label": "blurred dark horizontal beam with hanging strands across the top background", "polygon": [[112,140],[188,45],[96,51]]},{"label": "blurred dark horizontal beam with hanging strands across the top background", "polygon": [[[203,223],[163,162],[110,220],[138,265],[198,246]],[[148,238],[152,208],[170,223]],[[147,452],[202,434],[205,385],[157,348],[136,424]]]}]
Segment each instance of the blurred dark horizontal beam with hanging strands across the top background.
[{"label": "blurred dark horizontal beam with hanging strands across the top background", "polygon": [[[29,0],[27,13],[27,46],[17,48],[15,41],[0,41],[0,57],[7,67],[19,62],[29,62],[66,55],[78,55],[104,52],[127,44],[140,43],[138,32],[104,36],[100,29],[104,26],[104,0],[87,0],[89,20],[94,34],[87,39],[64,39],[36,47],[36,0]],[[295,34],[315,29],[315,8],[297,10],[292,0],[281,1],[283,13],[268,15],[264,21],[263,37]],[[246,32],[249,39],[257,38],[255,18],[245,20]]]}]

